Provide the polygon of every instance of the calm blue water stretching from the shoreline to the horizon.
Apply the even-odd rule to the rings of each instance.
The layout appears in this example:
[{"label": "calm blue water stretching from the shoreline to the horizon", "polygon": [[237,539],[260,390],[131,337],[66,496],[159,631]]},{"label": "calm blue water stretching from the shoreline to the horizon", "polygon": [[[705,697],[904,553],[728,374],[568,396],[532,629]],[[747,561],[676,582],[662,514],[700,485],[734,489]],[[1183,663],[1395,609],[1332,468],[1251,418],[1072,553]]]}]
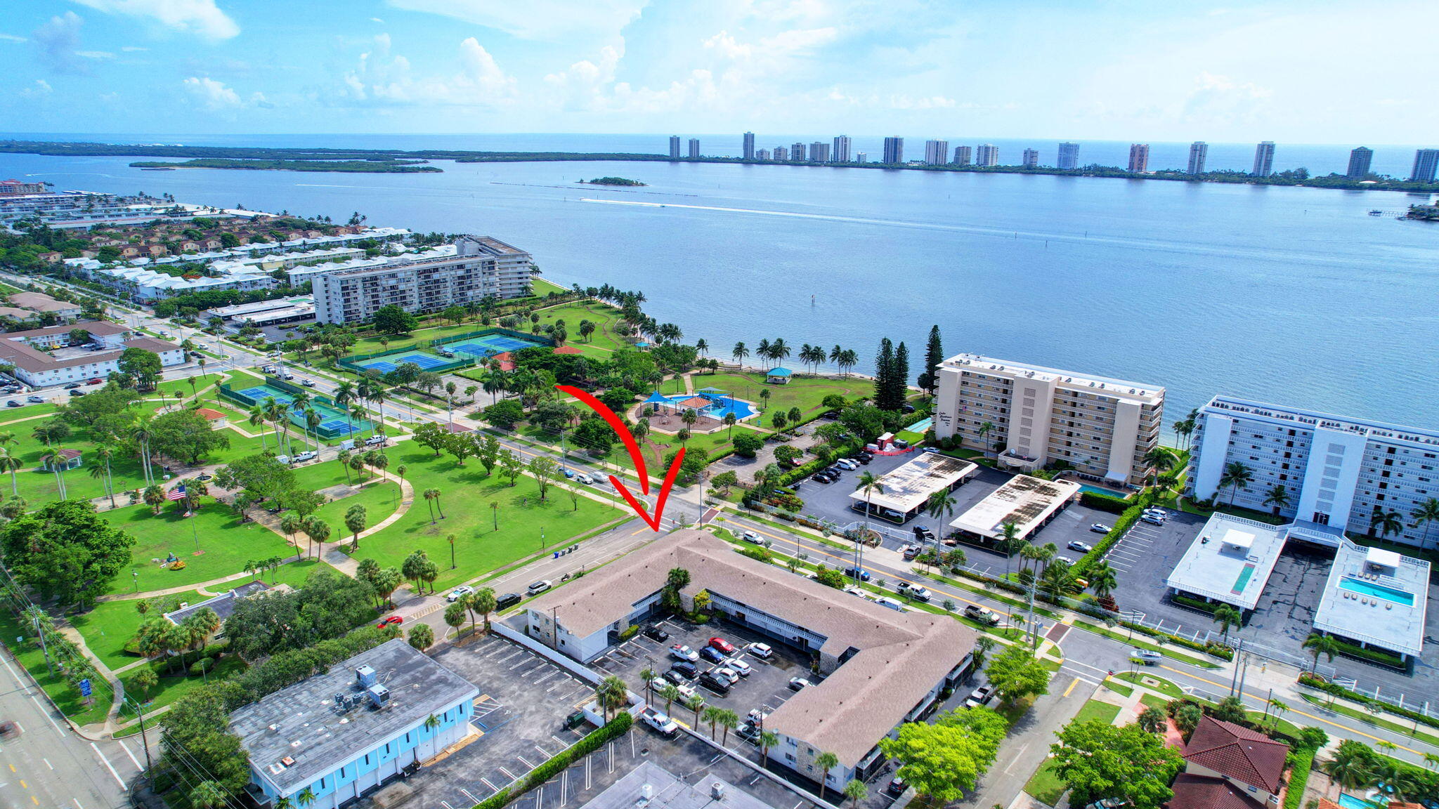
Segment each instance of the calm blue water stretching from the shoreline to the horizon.
[{"label": "calm blue water stretching from the shoreline to the horizon", "polygon": [[[648,135],[232,143],[663,148]],[[531,250],[560,284],[643,289],[646,311],[720,356],[737,340],[784,337],[855,348],[863,371],[889,335],[909,344],[915,369],[938,324],[951,354],[1164,384],[1168,422],[1223,392],[1439,426],[1439,225],[1366,216],[1420,197],[778,166],[443,163],[443,174],[364,176],[125,163],[3,154],[0,177],[489,233]],[[606,174],[649,187],[574,184]]]}]

